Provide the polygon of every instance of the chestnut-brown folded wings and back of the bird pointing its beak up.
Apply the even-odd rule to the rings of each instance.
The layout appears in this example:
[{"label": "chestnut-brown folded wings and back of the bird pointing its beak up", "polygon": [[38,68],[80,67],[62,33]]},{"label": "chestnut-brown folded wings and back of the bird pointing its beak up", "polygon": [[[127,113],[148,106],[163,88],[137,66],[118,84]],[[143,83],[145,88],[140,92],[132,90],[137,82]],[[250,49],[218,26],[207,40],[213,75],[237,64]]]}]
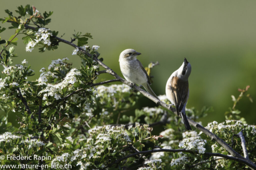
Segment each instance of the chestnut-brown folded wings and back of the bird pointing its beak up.
[{"label": "chestnut-brown folded wings and back of the bird pointing its beak up", "polygon": [[172,78],[172,93],[175,98],[175,106],[178,112],[181,112],[186,104],[188,97],[188,81],[180,80],[178,77]]}]

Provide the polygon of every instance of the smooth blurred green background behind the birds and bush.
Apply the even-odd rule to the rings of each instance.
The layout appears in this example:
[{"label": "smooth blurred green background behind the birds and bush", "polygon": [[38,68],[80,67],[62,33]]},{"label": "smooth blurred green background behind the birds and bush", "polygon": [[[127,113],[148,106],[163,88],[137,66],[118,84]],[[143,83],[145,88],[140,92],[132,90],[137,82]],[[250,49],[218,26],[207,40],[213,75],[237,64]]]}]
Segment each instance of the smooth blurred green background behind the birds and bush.
[{"label": "smooth blurred green background behind the birds and bush", "polygon": [[[65,33],[63,39],[70,41],[74,30],[91,33],[94,39],[89,39],[88,44],[99,45],[104,63],[120,76],[118,58],[124,49],[142,53],[138,59],[144,67],[158,61],[160,65],[152,70],[151,86],[157,95],[165,94],[166,81],[186,57],[192,65],[187,107],[199,110],[203,106],[214,107],[214,112],[201,119],[203,125],[225,120],[224,112],[233,104],[231,95],[237,98],[240,94],[238,88],[250,85],[248,93],[256,98],[254,0],[27,0],[26,3],[12,0],[1,2],[0,18],[8,16],[4,10],[14,12],[17,6],[26,4],[34,5],[41,14],[53,11],[48,27],[59,31],[59,36]],[[0,23],[0,26],[8,28],[11,24]],[[1,39],[8,40],[14,31],[4,31]],[[19,57],[13,58],[14,64],[26,59],[35,70],[34,80],[40,75],[40,68],[47,67],[53,59],[68,57],[73,67],[80,68],[80,59],[72,55],[73,48],[69,45],[61,43],[55,51],[38,53],[34,49],[30,53],[25,51],[22,35],[18,38],[15,53]],[[98,80],[112,78],[104,74]],[[152,104],[142,98],[138,109]],[[255,123],[254,103],[244,98],[237,108],[247,123]],[[19,127],[12,115],[9,113],[8,120]]]}]

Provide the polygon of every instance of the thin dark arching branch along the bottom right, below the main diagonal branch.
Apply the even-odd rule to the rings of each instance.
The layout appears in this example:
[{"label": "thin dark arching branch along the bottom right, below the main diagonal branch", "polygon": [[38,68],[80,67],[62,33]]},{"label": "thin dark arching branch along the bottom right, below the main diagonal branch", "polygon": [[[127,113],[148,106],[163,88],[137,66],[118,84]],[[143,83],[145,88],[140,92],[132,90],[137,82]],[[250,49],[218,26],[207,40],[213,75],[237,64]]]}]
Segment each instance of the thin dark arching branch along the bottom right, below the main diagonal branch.
[{"label": "thin dark arching branch along the bottom right, below the main diagonal branch", "polygon": [[[140,151],[140,152],[135,152],[133,154],[130,154],[130,155],[127,155],[127,156],[124,156],[123,158],[120,158],[114,162],[112,162],[111,164],[108,165],[108,167],[111,167],[112,165],[114,164],[118,164],[119,162],[121,162],[122,160],[125,160],[127,158],[130,158],[130,157],[133,157],[133,156],[136,156],[138,154],[148,154],[148,153],[155,153],[155,152],[188,152],[188,153],[191,153],[191,154],[199,154],[198,151],[196,150],[186,150],[186,149],[156,149],[156,150],[146,150],[146,151]],[[256,169],[256,165],[253,164],[253,163],[250,163],[244,159],[241,159],[241,158],[236,158],[236,157],[233,157],[233,156],[228,156],[228,155],[225,155],[225,154],[220,154],[220,153],[211,153],[211,152],[204,152],[204,155],[208,155],[208,156],[218,156],[218,157],[222,157],[222,158],[226,158],[226,159],[229,159],[229,160],[236,160],[238,162],[241,162],[243,164],[246,164],[247,166],[249,166],[250,168],[253,168],[253,169]]]}]

